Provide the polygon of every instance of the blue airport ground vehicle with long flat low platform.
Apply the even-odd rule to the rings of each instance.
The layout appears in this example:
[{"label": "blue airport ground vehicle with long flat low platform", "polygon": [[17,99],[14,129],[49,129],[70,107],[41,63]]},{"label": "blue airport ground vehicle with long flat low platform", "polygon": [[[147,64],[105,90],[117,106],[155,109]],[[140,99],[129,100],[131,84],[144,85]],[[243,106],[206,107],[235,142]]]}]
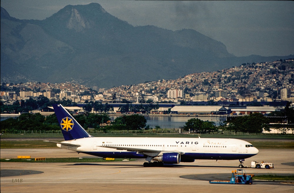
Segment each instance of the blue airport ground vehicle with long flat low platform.
[{"label": "blue airport ground vehicle with long flat low platform", "polygon": [[210,184],[253,184],[252,177],[254,174],[246,174],[245,170],[237,169],[232,171],[230,181],[226,180],[213,180],[209,181]]}]

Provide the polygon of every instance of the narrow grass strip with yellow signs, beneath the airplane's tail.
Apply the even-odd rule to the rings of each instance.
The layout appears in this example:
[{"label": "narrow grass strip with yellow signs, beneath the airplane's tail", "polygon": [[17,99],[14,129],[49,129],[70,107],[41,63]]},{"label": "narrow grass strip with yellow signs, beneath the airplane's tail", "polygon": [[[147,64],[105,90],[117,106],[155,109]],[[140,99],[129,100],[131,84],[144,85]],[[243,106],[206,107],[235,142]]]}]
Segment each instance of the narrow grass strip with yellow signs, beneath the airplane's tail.
[{"label": "narrow grass strip with yellow signs, beneath the airplane's tail", "polygon": [[[103,158],[46,158],[46,160],[35,161],[32,159],[0,159],[1,162],[43,162],[43,163],[66,163],[66,162],[109,162],[109,161],[123,161],[126,159],[116,158],[114,160],[103,160]],[[134,161],[136,159],[127,159]]]}]

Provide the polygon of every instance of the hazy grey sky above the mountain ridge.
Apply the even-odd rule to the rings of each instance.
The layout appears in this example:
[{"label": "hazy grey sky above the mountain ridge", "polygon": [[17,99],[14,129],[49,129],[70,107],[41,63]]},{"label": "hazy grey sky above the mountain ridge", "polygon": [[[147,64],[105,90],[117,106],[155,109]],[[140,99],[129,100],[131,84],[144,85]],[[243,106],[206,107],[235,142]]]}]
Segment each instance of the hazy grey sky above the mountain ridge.
[{"label": "hazy grey sky above the mountain ridge", "polygon": [[294,54],[294,1],[1,0],[1,6],[11,17],[42,20],[91,2],[133,26],[194,29],[235,56]]}]

